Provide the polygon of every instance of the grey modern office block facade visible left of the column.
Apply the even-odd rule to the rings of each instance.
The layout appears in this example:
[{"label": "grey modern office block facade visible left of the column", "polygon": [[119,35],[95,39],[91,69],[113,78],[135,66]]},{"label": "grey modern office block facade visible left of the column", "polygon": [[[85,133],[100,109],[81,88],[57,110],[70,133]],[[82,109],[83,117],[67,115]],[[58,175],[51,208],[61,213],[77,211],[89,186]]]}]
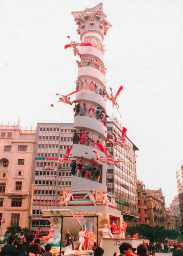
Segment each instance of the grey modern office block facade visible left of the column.
[{"label": "grey modern office block facade visible left of the column", "polygon": [[[53,163],[64,157],[67,148],[72,148],[72,134],[72,123],[37,124],[31,210],[35,218],[31,220],[31,228],[43,227],[47,230],[49,222],[36,218],[36,215],[41,215],[43,209],[57,208],[60,192],[71,188],[69,164],[60,166]],[[48,165],[52,166],[45,169]]]}]

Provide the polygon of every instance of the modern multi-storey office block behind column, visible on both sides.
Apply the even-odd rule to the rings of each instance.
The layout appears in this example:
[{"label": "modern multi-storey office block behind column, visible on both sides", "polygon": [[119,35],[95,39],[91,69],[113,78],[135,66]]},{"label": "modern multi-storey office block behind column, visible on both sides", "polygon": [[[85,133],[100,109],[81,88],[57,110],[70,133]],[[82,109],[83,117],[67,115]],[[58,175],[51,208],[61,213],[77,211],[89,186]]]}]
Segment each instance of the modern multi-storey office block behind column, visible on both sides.
[{"label": "modern multi-storey office block behind column, visible on both sides", "polygon": [[[119,136],[122,128],[118,123],[111,118],[111,121],[108,122],[108,133],[112,134],[114,132]],[[71,188],[69,164],[62,167],[55,164],[49,169],[44,167],[63,157],[67,148],[72,148],[72,135],[72,123],[37,124],[35,163],[32,173],[32,228],[41,226],[44,230],[48,230],[49,222],[36,218],[36,215],[41,215],[43,209],[60,207],[60,192]],[[127,143],[131,147],[130,151],[126,151],[119,146],[111,147],[110,143],[107,144],[108,151],[114,157],[119,157],[127,162],[135,161],[135,150],[138,150],[138,148],[128,138]],[[119,166],[108,165],[107,191],[111,195],[116,195],[118,209],[124,214],[123,217],[128,225],[138,223],[136,165],[132,163],[122,163]]]}]

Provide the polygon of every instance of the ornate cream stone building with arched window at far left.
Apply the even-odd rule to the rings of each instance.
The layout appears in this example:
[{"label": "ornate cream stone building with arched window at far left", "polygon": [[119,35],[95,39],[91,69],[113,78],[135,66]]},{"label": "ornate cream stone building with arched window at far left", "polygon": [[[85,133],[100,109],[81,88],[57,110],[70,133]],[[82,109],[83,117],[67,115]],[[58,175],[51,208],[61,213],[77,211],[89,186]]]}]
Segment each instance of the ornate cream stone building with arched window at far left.
[{"label": "ornate cream stone building with arched window at far left", "polygon": [[0,125],[0,233],[7,226],[28,226],[36,132],[17,125]]}]

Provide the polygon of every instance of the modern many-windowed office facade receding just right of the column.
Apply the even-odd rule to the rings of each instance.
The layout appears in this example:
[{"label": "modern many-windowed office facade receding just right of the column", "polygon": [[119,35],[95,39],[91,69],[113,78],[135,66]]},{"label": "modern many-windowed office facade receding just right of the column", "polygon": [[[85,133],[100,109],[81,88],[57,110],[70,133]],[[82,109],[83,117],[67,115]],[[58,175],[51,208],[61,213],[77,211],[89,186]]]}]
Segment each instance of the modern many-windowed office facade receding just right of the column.
[{"label": "modern many-windowed office facade receding just right of the column", "polygon": [[[116,117],[112,116],[107,124],[108,133],[120,138],[122,135],[122,125]],[[110,136],[107,137],[111,139]],[[124,162],[119,165],[108,165],[107,167],[107,191],[116,196],[118,209],[122,211],[124,221],[128,226],[139,222],[138,216],[138,198],[137,198],[137,179],[136,179],[136,154],[138,148],[131,140],[126,137],[126,143],[130,150],[116,145],[111,146],[107,143],[107,149],[113,157],[123,159]],[[133,162],[134,163],[131,163]]]}]

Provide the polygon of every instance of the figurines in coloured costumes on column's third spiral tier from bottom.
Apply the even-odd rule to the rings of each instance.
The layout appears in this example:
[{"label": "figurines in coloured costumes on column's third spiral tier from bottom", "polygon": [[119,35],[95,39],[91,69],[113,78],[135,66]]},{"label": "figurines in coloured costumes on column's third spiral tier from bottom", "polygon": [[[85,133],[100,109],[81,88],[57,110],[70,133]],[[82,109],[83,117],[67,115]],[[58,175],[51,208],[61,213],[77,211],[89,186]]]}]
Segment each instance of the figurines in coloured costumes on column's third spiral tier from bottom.
[{"label": "figurines in coloured costumes on column's third spiral tier from bottom", "polygon": [[[105,114],[104,110],[101,111],[101,109],[101,107],[97,107],[96,119],[100,120],[103,123],[103,125],[107,127],[107,118],[109,116]],[[93,118],[95,111],[93,105],[90,105],[90,107],[87,109],[86,103],[82,103],[82,106],[80,105],[80,103],[76,103],[75,107],[73,108],[74,116],[85,116],[86,110],[89,111],[89,117]]]}]

